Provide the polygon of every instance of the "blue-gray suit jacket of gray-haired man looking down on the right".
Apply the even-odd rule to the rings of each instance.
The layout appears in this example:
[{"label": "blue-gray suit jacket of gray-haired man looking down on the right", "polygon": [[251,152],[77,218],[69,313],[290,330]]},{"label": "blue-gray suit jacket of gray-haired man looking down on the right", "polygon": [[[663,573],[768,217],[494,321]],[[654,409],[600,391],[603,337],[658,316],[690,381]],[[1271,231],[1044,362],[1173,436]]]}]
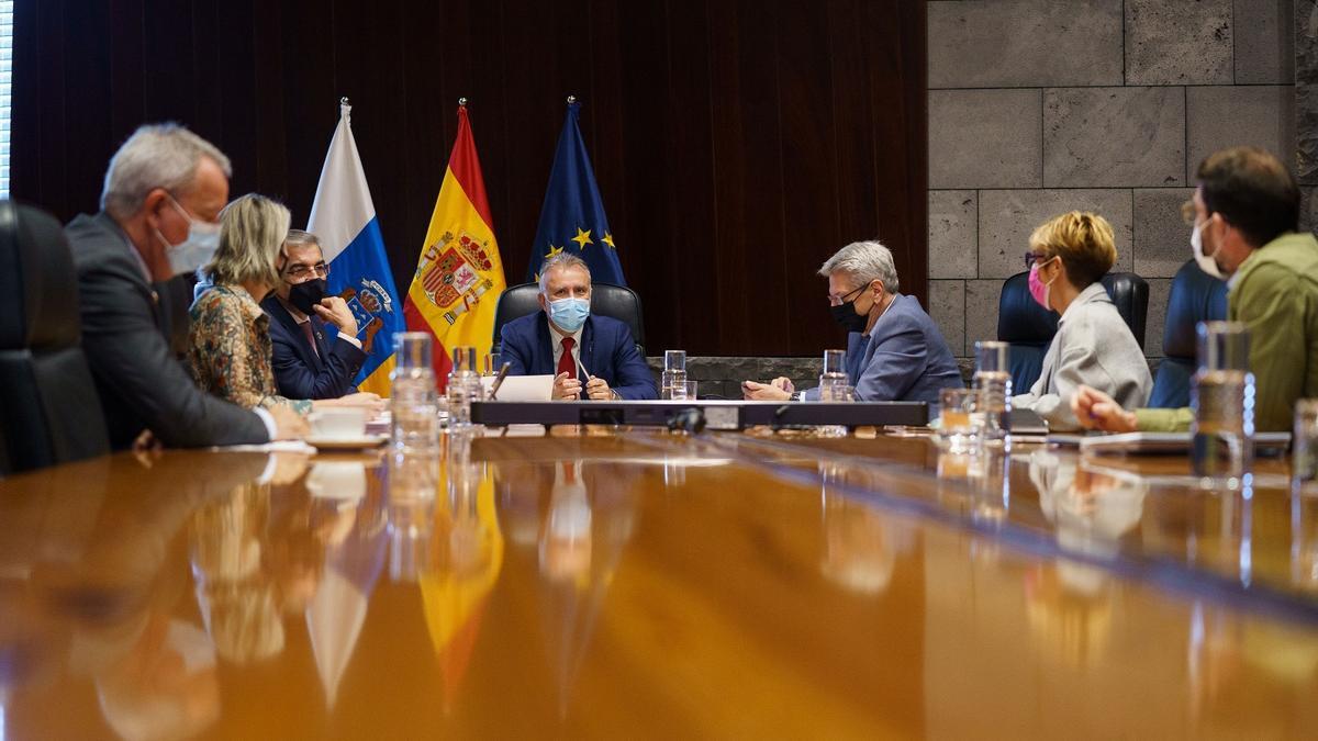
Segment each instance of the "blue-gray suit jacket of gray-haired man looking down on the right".
[{"label": "blue-gray suit jacket of gray-haired man looking down on the right", "polygon": [[[938,390],[963,388],[942,332],[912,295],[896,294],[870,335],[846,338],[846,374],[858,401],[938,402]],[[818,400],[818,389],[805,393]]]}]

